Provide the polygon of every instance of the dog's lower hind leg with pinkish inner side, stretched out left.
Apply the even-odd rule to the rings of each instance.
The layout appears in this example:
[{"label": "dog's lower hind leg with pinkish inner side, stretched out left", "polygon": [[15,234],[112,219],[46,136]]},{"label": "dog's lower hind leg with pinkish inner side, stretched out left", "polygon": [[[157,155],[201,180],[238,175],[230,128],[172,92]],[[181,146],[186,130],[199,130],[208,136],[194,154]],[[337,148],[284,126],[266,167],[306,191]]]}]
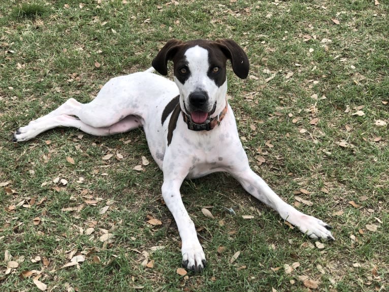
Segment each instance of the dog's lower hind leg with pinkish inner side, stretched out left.
[{"label": "dog's lower hind leg with pinkish inner side, stretched out left", "polygon": [[29,123],[27,126],[20,127],[14,134],[12,141],[27,141],[36,137],[42,132],[58,126],[75,127],[80,129],[82,132],[94,136],[108,136],[130,131],[131,129],[137,128],[142,124],[141,119],[133,115],[126,116],[117,123],[107,127],[92,127],[82,122],[80,119],[66,114],[52,116],[49,115],[45,116],[44,119],[41,118],[41,120],[36,120],[33,123]]}]

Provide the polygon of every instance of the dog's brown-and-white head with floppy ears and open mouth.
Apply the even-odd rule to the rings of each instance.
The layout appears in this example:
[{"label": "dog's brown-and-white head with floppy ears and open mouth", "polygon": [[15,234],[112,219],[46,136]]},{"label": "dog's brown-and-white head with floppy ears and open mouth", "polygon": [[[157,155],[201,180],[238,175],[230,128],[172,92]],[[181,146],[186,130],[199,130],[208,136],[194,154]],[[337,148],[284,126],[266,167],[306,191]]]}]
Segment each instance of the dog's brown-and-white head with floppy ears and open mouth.
[{"label": "dog's brown-and-white head with floppy ears and open mouth", "polygon": [[234,73],[246,78],[249,61],[243,49],[233,40],[171,40],[152,61],[154,69],[168,74],[168,61],[174,64],[174,80],[180,91],[182,111],[193,122],[202,124],[225,107],[226,61],[231,60]]}]

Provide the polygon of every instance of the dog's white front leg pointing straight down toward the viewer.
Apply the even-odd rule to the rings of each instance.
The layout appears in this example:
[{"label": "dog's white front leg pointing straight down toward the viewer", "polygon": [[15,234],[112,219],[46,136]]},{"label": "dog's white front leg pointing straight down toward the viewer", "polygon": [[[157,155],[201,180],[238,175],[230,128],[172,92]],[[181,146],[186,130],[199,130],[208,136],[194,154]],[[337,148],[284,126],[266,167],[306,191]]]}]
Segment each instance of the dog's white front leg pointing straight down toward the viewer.
[{"label": "dog's white front leg pointing straight down toward the viewer", "polygon": [[201,272],[206,266],[206,259],[203,248],[197,238],[195,224],[190,219],[188,212],[185,210],[182,203],[180,186],[182,179],[173,178],[176,175],[172,172],[165,175],[164,184],[162,185],[162,196],[168,206],[170,212],[173,214],[176,221],[178,232],[180,233],[182,241],[182,265],[195,272]]}]

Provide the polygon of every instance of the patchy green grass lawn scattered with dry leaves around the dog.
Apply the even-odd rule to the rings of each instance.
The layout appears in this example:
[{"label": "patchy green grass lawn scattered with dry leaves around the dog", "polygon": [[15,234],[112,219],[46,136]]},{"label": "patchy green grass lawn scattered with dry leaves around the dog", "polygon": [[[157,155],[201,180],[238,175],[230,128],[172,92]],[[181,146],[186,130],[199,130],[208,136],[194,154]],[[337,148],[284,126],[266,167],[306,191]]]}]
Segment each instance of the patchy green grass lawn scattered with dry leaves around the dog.
[{"label": "patchy green grass lawn scattered with dry leaves around the dog", "polygon": [[[0,3],[0,251],[18,263],[8,269],[9,256],[0,257],[2,288],[38,291],[39,278],[48,291],[306,291],[307,276],[321,291],[387,289],[389,135],[376,125],[389,122],[387,3],[123,3]],[[250,77],[231,71],[229,94],[251,166],[288,203],[311,201],[298,209],[333,225],[335,242],[317,248],[229,176],[213,174],[181,187],[209,263],[183,277],[163,175],[141,129],[101,138],[61,128],[10,142],[16,128],[68,98],[88,102],[110,78],[148,68],[173,37],[245,47]],[[102,159],[110,153],[123,159]],[[133,170],[142,156],[150,164]],[[101,241],[106,233],[114,237]],[[141,265],[146,252],[153,268]],[[85,261],[63,267],[75,255]],[[34,273],[21,277],[26,271]]]}]

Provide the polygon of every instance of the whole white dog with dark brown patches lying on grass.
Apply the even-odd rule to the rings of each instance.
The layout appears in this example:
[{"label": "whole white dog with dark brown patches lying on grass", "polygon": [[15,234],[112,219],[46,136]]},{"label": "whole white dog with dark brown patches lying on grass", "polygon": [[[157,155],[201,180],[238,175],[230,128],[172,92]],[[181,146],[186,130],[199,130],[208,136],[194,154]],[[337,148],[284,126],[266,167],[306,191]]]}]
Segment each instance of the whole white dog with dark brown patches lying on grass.
[{"label": "whole white dog with dark brown patches lying on grass", "polygon": [[[174,82],[165,77],[173,61]],[[284,202],[249,167],[238,136],[234,113],[226,100],[226,61],[247,77],[249,60],[233,40],[170,40],[152,67],[109,80],[94,100],[69,99],[56,110],[14,133],[26,141],[57,126],[76,127],[96,136],[124,133],[143,126],[147,143],[163,171],[163,199],[176,221],[182,241],[182,265],[201,272],[206,266],[195,224],[181,199],[185,178],[227,172],[253,197],[276,210],[282,219],[312,239],[334,240],[330,226]]]}]

